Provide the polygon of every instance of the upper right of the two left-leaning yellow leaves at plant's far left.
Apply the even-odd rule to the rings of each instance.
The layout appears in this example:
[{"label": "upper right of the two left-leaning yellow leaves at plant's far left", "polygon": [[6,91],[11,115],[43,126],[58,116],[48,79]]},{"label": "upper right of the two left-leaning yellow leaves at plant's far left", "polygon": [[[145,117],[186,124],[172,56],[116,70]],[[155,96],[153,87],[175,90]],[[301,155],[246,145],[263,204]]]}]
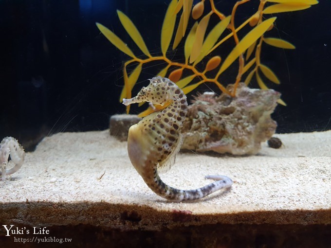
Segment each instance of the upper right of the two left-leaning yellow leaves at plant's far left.
[{"label": "upper right of the two left-leaning yellow leaves at plant's far left", "polygon": [[140,35],[138,29],[133,24],[133,22],[128,18],[122,11],[117,10],[118,18],[120,19],[123,27],[128,32],[130,37],[133,39],[133,41],[137,44],[137,46],[140,48],[140,50],[145,53],[148,57],[150,57],[150,54],[148,52],[147,46],[144,42],[143,37]]}]

